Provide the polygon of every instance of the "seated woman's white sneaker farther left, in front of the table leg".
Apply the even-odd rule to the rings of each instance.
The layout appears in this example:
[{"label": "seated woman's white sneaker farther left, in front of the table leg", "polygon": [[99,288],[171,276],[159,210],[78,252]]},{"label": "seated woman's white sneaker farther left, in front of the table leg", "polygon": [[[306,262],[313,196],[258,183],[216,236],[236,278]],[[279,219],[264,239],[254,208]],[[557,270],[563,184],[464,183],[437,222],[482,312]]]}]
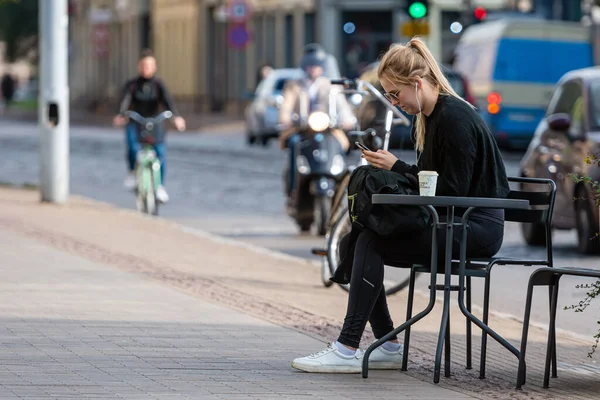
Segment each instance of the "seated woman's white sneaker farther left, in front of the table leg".
[{"label": "seated woman's white sneaker farther left, in front of the table leg", "polygon": [[292,367],[305,372],[321,372],[328,374],[358,374],[362,370],[361,349],[351,356],[342,354],[335,344],[329,343],[327,348],[307,357],[296,358]]}]

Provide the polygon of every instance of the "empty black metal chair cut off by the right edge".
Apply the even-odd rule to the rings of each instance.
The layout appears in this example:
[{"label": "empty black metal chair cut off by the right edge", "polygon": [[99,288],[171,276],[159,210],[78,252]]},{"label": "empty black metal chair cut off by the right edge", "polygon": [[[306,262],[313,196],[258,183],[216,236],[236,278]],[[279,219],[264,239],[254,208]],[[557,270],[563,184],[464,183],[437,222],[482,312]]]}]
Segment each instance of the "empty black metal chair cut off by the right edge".
[{"label": "empty black metal chair cut off by the right edge", "polygon": [[550,297],[550,323],[548,325],[548,343],[546,344],[546,366],[544,368],[544,388],[548,388],[550,381],[550,362],[552,361],[552,377],[558,377],[556,371],[556,308],[558,304],[558,282],[563,275],[600,278],[600,271],[593,269],[575,268],[550,268],[536,269],[529,277],[527,285],[527,298],[525,301],[525,315],[523,317],[523,334],[521,336],[521,349],[519,351],[519,370],[517,372],[517,389],[526,381],[525,351],[527,350],[527,334],[529,333],[529,318],[531,317],[531,304],[533,288],[535,286],[548,286]]}]

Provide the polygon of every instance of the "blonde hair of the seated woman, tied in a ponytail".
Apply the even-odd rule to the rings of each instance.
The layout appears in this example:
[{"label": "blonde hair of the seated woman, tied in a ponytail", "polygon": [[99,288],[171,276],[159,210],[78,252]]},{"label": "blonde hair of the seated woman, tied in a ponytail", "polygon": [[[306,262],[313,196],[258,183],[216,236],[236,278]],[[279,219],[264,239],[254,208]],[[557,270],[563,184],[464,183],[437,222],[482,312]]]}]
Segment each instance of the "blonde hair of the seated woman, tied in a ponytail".
[{"label": "blonde hair of the seated woman, tied in a ponytail", "polygon": [[[405,46],[393,44],[390,47],[381,58],[377,76],[379,79],[385,76],[392,83],[399,85],[414,85],[415,78],[421,77],[421,79],[428,80],[441,95],[454,96],[473,107],[452,89],[450,82],[446,79],[425,42],[416,36],[409,40]],[[419,112],[415,118],[415,148],[421,152],[425,147],[425,118],[423,112]]]}]

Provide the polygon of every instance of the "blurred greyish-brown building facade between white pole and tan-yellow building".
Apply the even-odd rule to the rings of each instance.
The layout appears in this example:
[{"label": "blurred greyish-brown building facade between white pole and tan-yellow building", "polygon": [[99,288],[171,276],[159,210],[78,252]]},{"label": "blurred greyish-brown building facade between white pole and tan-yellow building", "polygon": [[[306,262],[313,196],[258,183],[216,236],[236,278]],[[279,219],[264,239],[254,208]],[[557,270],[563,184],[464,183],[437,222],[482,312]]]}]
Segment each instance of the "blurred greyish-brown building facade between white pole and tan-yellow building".
[{"label": "blurred greyish-brown building facade between white pole and tan-yellow building", "polygon": [[125,80],[149,46],[148,0],[71,0],[71,103],[91,110],[113,107]]}]

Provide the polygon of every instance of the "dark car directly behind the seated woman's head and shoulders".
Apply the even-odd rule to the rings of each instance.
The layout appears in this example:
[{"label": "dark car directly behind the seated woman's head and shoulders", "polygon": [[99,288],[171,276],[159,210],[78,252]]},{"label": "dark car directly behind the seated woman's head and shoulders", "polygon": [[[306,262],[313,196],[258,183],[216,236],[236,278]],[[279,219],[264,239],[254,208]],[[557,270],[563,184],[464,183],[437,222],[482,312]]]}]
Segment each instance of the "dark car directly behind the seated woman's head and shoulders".
[{"label": "dark car directly behind the seated woman's head and shoulders", "polygon": [[[381,87],[381,83],[379,83],[379,78],[377,77],[378,67],[379,61],[370,64],[362,73],[359,79],[369,82],[370,84],[375,86],[380,92],[383,93],[383,88]],[[450,85],[456,91],[456,93],[471,104],[475,105],[475,99],[470,94],[467,80],[458,72],[452,70],[449,67],[442,66],[442,71],[444,71],[444,75],[446,75],[446,78],[448,78]],[[400,111],[404,113],[404,111]],[[363,102],[358,107],[357,111],[357,118],[360,127],[362,129],[365,129],[367,127],[375,128],[377,134],[383,137],[385,113],[386,109],[379,100],[374,98],[374,96],[372,95],[367,96],[363,99]],[[407,115],[406,113],[404,113],[404,115],[409,120],[412,120],[412,116]],[[413,143],[410,138],[410,130],[411,126],[398,125],[393,127],[392,133],[390,135],[389,148],[412,148]]]}]

